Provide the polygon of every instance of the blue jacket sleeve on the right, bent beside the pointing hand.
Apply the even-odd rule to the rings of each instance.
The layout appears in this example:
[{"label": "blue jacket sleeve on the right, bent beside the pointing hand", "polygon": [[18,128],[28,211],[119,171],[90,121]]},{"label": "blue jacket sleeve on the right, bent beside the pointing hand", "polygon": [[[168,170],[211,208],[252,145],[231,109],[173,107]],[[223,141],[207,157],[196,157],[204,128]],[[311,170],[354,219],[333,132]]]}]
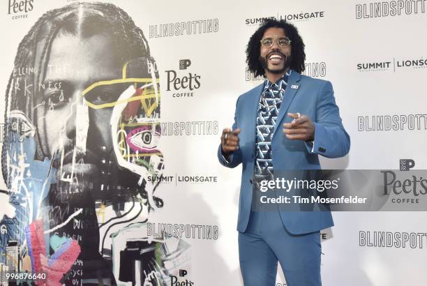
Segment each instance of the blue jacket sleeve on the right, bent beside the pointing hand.
[{"label": "blue jacket sleeve on the right, bent beside the pointing hand", "polygon": [[343,127],[340,112],[335,102],[331,82],[325,82],[316,104],[313,144],[306,144],[309,153],[327,158],[338,158],[350,151],[350,136]]}]

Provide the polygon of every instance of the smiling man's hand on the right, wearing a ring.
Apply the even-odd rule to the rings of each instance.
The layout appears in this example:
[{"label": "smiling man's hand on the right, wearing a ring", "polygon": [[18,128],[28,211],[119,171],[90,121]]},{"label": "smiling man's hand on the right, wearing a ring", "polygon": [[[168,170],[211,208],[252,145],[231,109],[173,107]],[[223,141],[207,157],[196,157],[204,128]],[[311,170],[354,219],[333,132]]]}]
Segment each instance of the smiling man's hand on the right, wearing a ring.
[{"label": "smiling man's hand on the right, wearing a ring", "polygon": [[294,120],[283,123],[283,133],[290,140],[313,141],[315,125],[310,117],[299,113],[288,113]]}]

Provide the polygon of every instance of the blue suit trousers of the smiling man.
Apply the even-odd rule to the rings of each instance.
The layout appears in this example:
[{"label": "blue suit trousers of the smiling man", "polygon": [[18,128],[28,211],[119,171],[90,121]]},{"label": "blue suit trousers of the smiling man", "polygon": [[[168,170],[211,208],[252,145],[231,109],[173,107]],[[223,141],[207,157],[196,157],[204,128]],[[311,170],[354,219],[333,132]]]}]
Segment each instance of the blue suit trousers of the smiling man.
[{"label": "blue suit trousers of the smiling man", "polygon": [[276,285],[277,262],[288,286],[321,286],[320,255],[320,232],[290,234],[276,211],[252,211],[239,232],[244,286]]}]

